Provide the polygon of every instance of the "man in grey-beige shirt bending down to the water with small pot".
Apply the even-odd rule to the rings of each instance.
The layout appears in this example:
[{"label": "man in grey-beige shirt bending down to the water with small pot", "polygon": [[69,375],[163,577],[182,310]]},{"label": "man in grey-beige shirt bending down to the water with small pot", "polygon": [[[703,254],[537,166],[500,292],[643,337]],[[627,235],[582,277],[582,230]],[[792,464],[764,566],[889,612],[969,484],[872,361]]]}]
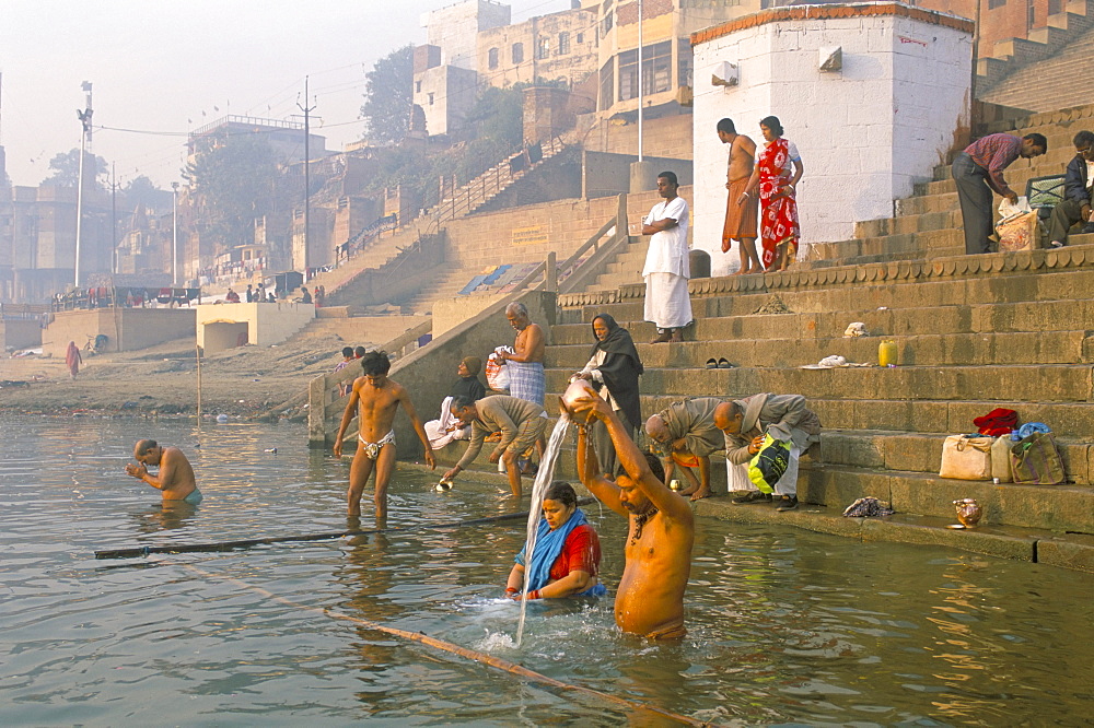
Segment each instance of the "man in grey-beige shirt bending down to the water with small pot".
[{"label": "man in grey-beige shirt bending down to the water with small pot", "polygon": [[486,436],[500,432],[501,441],[490,454],[490,462],[501,460],[505,463],[509,488],[515,497],[521,497],[521,468],[516,459],[543,436],[547,428],[547,411],[535,402],[508,395],[484,397],[478,401],[455,397],[451,409],[452,414],[464,426],[472,425],[472,442],[467,444],[464,456],[444,473],[443,479],[455,478],[478,457]]}]

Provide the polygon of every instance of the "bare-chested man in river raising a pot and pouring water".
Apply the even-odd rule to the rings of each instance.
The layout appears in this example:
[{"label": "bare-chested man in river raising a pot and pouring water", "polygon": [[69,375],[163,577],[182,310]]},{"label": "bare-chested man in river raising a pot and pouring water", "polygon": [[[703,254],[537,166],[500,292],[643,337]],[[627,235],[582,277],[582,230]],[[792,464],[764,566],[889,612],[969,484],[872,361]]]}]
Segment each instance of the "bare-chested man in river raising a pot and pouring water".
[{"label": "bare-chested man in river raising a pot and pouring water", "polygon": [[650,639],[675,639],[684,627],[684,590],[691,573],[695,524],[691,506],[668,490],[656,456],[644,454],[627,435],[612,406],[600,397],[573,404],[575,422],[586,414],[607,426],[624,474],[612,482],[600,472],[587,425],[578,425],[581,482],[607,507],[630,521],[626,564],[616,596],[616,624]]}]

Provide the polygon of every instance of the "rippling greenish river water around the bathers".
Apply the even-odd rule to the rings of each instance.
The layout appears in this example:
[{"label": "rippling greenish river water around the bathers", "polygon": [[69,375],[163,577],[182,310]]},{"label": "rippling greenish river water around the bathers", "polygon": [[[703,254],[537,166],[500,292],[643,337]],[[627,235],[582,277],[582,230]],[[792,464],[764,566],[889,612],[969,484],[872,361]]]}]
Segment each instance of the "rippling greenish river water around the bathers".
[{"label": "rippling greenish river water around the bathers", "polygon": [[[199,506],[164,509],[124,474],[143,436],[190,456]],[[501,595],[523,520],[411,530],[508,513],[508,486],[437,493],[416,471],[391,488],[398,530],[94,559],[345,529],[348,462],[305,441],[298,425],[0,420],[0,725],[665,725],[345,618],[723,725],[1089,725],[1094,579],[1038,564],[700,519],[688,637],[651,645],[615,629],[625,524],[593,505],[609,597],[533,604],[516,648]]]}]

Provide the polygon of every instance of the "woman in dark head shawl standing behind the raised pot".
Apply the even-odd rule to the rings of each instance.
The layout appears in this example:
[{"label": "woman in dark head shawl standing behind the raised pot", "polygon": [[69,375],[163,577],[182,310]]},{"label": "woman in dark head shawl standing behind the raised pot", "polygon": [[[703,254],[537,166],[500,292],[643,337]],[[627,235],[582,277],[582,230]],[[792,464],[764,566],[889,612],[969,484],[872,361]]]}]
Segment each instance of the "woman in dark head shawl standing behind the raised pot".
[{"label": "woman in dark head shawl standing behind the raised pot", "polygon": [[[608,314],[597,314],[593,319],[593,336],[596,338],[596,344],[590,352],[589,363],[585,364],[585,368],[573,375],[572,379],[590,380],[601,397],[612,404],[612,409],[633,439],[636,428],[642,423],[638,391],[642,360],[638,356],[638,349],[635,348],[630,332],[616,324]],[[607,427],[597,420],[590,426],[590,435],[596,448],[601,472],[614,478],[616,455]]]}]

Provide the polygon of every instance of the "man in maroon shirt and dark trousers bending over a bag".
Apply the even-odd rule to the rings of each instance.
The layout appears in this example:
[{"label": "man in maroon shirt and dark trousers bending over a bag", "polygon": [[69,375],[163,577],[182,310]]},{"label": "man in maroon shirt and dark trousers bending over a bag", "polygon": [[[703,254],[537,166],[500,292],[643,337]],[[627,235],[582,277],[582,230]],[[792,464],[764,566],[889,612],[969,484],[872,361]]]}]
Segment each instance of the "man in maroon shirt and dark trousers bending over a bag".
[{"label": "man in maroon shirt and dark trousers bending over a bag", "polygon": [[1048,141],[1038,133],[1022,139],[1011,134],[988,134],[965,148],[954,160],[952,173],[957,185],[962,224],[965,227],[965,254],[991,253],[991,191],[1011,202],[1019,193],[1006,186],[1003,169],[1020,156],[1032,158],[1048,151]]}]

